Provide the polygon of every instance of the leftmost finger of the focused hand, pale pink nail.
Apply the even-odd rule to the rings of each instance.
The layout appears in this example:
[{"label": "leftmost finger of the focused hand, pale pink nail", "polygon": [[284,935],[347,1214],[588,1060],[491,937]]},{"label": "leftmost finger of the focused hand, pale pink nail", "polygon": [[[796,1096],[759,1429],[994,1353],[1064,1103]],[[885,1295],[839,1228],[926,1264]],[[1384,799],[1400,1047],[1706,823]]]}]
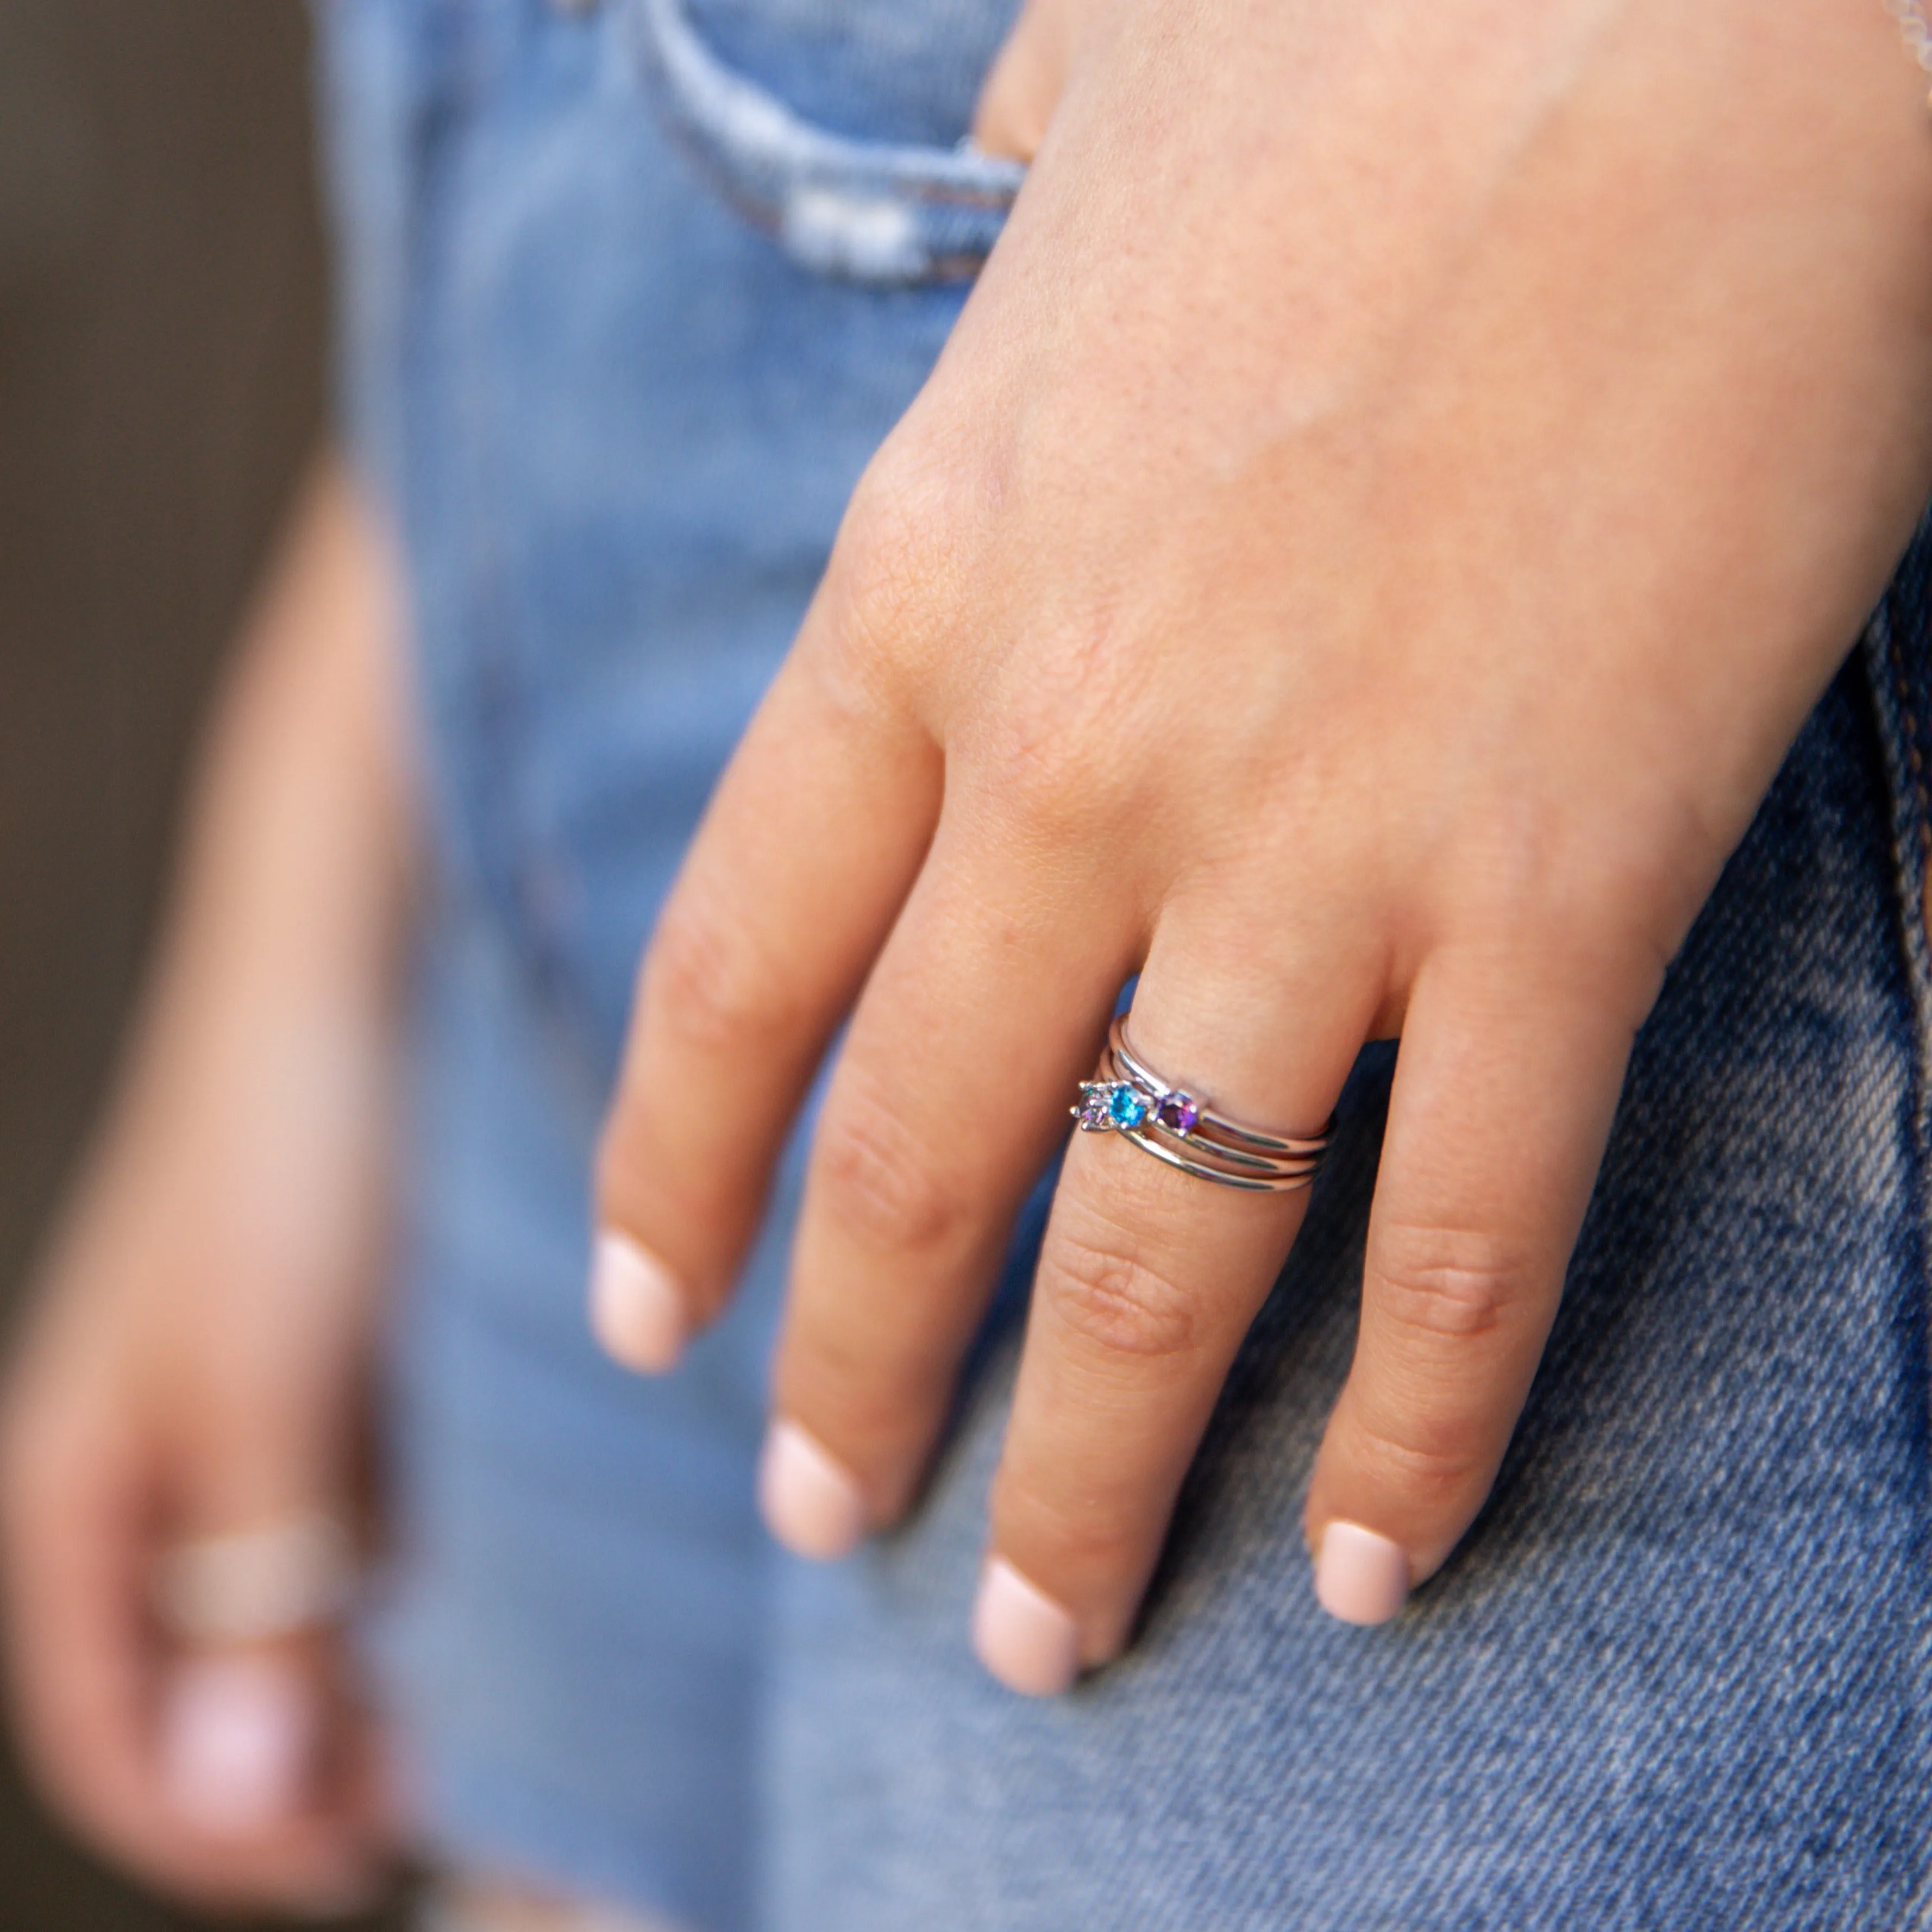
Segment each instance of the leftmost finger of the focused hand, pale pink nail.
[{"label": "leftmost finger of the focused hand, pale pink nail", "polygon": [[850,622],[833,576],[638,976],[591,1287],[599,1339],[630,1368],[668,1368],[730,1293],[792,1115],[939,815],[939,750],[850,674]]}]

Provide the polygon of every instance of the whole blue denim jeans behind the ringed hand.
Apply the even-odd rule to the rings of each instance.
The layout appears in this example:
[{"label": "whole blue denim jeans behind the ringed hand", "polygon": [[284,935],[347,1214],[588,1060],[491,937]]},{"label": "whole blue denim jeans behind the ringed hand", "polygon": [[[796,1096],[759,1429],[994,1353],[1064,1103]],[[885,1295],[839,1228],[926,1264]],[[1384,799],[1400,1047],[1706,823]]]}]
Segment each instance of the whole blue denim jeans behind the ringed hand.
[{"label": "whole blue denim jeans behind the ringed hand", "polygon": [[630,976],[864,462],[993,243],[1009,0],[328,0],[344,419],[437,854],[375,1631],[435,1841],[692,1926],[1932,1924],[1926,558],[1675,962],[1463,1549],[1320,1615],[1300,1492],[1389,1051],[1182,1497],[1053,1704],[964,1623],[1043,1194],[916,1520],[752,1513],[796,1153],[663,1383],[585,1335]]}]

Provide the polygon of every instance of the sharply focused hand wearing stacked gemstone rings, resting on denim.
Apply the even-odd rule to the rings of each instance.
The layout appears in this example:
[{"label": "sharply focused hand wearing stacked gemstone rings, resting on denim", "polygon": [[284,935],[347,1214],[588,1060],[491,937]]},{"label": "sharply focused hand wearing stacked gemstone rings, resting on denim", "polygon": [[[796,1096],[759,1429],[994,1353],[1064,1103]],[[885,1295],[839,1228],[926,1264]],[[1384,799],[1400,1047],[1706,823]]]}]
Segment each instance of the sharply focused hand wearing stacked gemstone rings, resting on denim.
[{"label": "sharply focused hand wearing stacked gemstone rings, resting on denim", "polygon": [[[1932,481],[1932,131],[1837,0],[1111,0],[1055,44],[643,962],[601,1325],[663,1366],[717,1312],[856,1001],[765,1464],[837,1553],[916,1495],[1132,972],[1144,1057],[1283,1132],[1401,1034],[1306,1507],[1376,1621],[1482,1505],[1633,1032]],[[976,1615],[1016,1689],[1128,1640],[1302,1200],[1074,1138]]]}]

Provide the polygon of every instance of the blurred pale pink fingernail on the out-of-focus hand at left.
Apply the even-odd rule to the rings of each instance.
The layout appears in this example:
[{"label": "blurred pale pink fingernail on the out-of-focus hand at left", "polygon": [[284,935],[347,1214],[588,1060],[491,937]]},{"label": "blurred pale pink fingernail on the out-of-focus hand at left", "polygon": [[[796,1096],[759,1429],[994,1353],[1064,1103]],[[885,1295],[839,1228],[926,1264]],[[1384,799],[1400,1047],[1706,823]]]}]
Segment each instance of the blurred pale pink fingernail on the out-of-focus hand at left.
[{"label": "blurred pale pink fingernail on the out-of-focus hand at left", "polygon": [[288,1663],[203,1658],[180,1665],[162,1696],[162,1785],[209,1837],[247,1837],[290,1816],[313,1748],[309,1690]]}]

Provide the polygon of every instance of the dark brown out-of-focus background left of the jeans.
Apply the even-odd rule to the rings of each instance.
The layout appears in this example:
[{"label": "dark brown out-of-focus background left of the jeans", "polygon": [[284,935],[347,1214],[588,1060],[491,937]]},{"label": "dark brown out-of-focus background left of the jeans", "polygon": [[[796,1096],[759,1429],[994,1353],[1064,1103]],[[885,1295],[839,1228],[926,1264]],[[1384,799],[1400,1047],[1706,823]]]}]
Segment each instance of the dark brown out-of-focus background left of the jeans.
[{"label": "dark brown out-of-focus background left of the jeans", "polygon": [[[112,1066],[325,398],[298,0],[0,0],[0,1293]],[[377,1924],[383,1920],[365,1920]],[[185,1932],[0,1762],[6,1932]]]}]

